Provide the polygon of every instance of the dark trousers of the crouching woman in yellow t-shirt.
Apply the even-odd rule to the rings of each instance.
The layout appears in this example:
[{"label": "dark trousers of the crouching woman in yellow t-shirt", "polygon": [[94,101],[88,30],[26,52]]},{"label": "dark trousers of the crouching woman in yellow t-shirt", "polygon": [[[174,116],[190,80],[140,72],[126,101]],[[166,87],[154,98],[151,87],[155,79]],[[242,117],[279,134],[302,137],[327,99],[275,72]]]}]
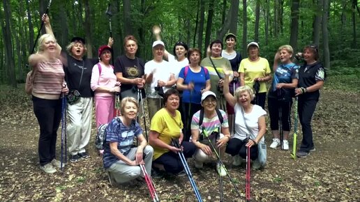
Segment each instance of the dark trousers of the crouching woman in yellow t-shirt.
[{"label": "dark trousers of the crouching woman in yellow t-shirt", "polygon": [[[183,141],[181,146],[183,146],[183,156],[185,158],[189,158],[194,155],[196,150],[194,143]],[[175,174],[183,170],[183,164],[181,163],[179,154],[173,153],[172,151],[169,151],[158,157],[153,161],[153,164],[162,164],[167,173]]]}]

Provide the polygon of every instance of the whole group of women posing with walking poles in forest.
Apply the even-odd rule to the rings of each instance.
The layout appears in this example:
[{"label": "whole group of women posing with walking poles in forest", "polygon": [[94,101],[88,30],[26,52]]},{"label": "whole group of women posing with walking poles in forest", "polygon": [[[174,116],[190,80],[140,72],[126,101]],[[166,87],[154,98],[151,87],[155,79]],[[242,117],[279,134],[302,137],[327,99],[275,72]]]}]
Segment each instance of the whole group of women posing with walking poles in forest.
[{"label": "whole group of women posing with walking poles in forest", "polygon": [[[139,164],[153,177],[185,175],[179,152],[193,157],[195,167],[202,169],[204,163],[213,161],[214,152],[218,157],[232,155],[232,164],[239,166],[250,148],[253,167],[259,169],[264,166],[259,161],[258,145],[264,143],[267,131],[266,98],[273,134],[270,147],[283,144],[284,150],[289,149],[290,111],[296,97],[303,129],[297,156],[306,157],[315,150],[310,123],[326,76],[315,46],[304,47],[300,56],[305,62],[300,68],[292,62],[292,47],[281,46],[271,77],[269,62],[260,56],[257,42],[248,44],[248,57],[242,59],[234,50],[237,37],[232,33],[225,36],[225,49],[221,40],[211,42],[209,56],[204,59],[200,49],[189,49],[184,42],[174,45],[172,55],[163,41],[156,40],[153,59],[147,63],[135,56],[135,37],[126,36],[125,54],[117,57],[113,66],[112,38],[98,49],[98,58],[84,59],[87,49],[83,38],[73,38],[68,52],[61,52],[47,15],[43,15],[43,22],[47,33],[40,37],[38,52],[29,56],[29,64],[34,71],[33,110],[40,125],[40,169],[45,173],[56,172],[61,164],[55,158],[55,146],[61,95],[67,94],[75,96],[67,105],[70,162],[89,157],[86,147],[94,101],[96,127],[108,123],[103,164],[110,179],[120,184],[142,180]],[[267,93],[266,83],[271,80]],[[136,120],[139,92],[146,92],[142,98],[147,98],[151,122],[149,143]],[[119,116],[114,111],[116,94],[123,98]],[[283,142],[280,133],[284,134]],[[133,147],[135,138],[137,147]],[[180,148],[172,144],[174,139]],[[216,164],[219,174],[225,175],[222,166]]]}]

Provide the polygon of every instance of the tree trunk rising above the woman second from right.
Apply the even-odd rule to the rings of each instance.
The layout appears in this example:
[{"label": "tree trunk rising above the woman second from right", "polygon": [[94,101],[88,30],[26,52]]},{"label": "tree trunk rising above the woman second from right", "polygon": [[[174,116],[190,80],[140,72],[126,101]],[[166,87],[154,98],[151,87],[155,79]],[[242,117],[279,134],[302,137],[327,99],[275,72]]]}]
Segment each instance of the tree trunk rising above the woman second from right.
[{"label": "tree trunk rising above the woman second from right", "polygon": [[290,26],[290,45],[297,50],[297,38],[299,34],[299,4],[300,0],[292,0],[291,6],[291,26]]}]

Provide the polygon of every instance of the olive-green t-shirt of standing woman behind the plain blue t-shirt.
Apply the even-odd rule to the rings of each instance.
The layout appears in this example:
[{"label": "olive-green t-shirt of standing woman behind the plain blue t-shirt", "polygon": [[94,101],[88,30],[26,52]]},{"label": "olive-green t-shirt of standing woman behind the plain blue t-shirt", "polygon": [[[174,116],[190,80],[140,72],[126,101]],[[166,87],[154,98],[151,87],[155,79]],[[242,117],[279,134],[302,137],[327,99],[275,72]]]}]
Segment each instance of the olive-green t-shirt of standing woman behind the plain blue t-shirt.
[{"label": "olive-green t-shirt of standing woman behind the plain blue t-shirt", "polygon": [[[230,61],[228,59],[225,59],[223,57],[218,58],[211,58],[213,60],[214,65],[216,66],[216,70],[218,70],[218,73],[221,78],[224,78],[224,70],[227,72],[232,71]],[[216,94],[217,98],[220,98],[220,91],[218,90],[218,83],[219,83],[219,76],[216,73],[216,70],[213,68],[213,65],[210,61],[210,58],[204,58],[201,61],[201,65],[209,70],[210,74],[210,81],[211,81],[211,88],[210,91],[213,91],[213,93]]]}]

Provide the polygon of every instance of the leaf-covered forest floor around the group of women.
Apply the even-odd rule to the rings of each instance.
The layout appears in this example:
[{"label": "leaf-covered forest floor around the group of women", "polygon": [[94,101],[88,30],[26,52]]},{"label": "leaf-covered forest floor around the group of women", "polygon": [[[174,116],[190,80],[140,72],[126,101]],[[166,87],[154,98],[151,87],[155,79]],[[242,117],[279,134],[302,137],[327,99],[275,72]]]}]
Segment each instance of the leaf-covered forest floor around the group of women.
[{"label": "leaf-covered forest floor around the group of women", "polygon": [[[333,82],[336,82],[333,80]],[[359,80],[354,86],[360,86]],[[88,146],[91,158],[68,163],[63,172],[45,174],[38,164],[38,123],[23,86],[0,86],[0,201],[151,201],[147,185],[111,187],[94,147],[93,128]],[[343,91],[325,86],[313,117],[316,151],[293,160],[290,150],[269,148],[268,164],[251,171],[252,201],[360,201],[359,88]],[[57,153],[60,156],[60,129]],[[298,146],[301,141],[301,129]],[[224,160],[241,192],[237,195],[223,178],[224,201],[245,200],[245,166]],[[219,201],[218,175],[214,166],[195,169],[188,160],[204,201]],[[161,201],[196,201],[186,176],[154,179]]]}]

